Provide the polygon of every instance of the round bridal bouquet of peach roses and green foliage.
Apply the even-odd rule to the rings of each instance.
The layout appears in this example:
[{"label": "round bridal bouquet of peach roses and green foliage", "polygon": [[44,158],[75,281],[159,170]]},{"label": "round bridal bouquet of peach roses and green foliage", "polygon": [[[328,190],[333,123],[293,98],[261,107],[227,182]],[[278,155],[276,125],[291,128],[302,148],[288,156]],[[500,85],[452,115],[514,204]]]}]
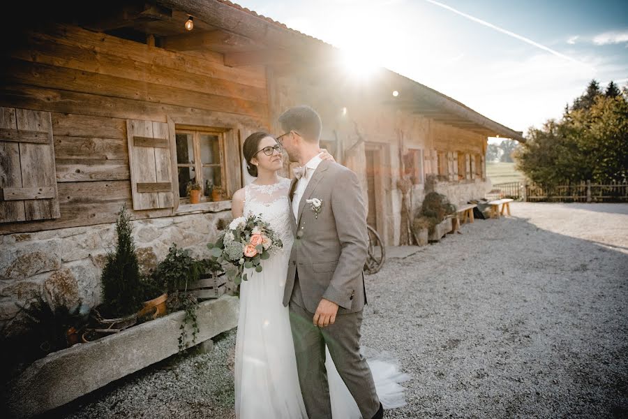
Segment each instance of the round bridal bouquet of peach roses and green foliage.
[{"label": "round bridal bouquet of peach roses and green foliage", "polygon": [[211,258],[218,263],[228,262],[232,266],[226,272],[236,285],[246,281],[244,269],[255,268],[262,272],[262,260],[270,258],[271,252],[283,247],[269,224],[260,216],[240,216],[220,232],[215,243],[207,244]]}]

